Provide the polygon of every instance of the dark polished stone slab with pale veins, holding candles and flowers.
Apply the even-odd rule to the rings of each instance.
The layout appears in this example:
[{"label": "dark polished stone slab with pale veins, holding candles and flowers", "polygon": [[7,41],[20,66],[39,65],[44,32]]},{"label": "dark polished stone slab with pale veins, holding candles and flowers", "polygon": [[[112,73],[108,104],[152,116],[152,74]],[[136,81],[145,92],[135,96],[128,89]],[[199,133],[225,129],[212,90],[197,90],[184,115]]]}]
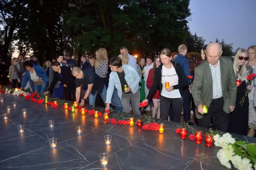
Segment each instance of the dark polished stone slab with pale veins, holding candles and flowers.
[{"label": "dark polished stone slab with pale veins, holding candles and flowers", "polygon": [[[189,130],[187,139],[181,140],[175,133],[179,123],[161,121],[165,123],[165,133],[159,134],[136,125],[105,123],[103,117],[80,115],[78,109],[71,113],[62,106],[51,108],[10,94],[0,97],[4,97],[0,102],[1,114],[7,112],[6,105],[17,101],[17,106],[9,111],[8,120],[0,118],[0,169],[103,169],[99,162],[99,154],[103,152],[109,154],[104,169],[227,169],[216,156],[220,148],[214,145],[208,148],[203,140],[200,145],[189,140]],[[22,114],[22,108],[28,109],[26,115]],[[116,113],[111,112],[110,118]],[[128,120],[129,116],[125,118]],[[145,122],[144,116],[141,118]],[[53,128],[48,126],[48,120],[55,120]],[[22,134],[18,133],[19,124],[25,125]],[[83,126],[83,134],[77,134],[78,125]],[[194,128],[204,133],[209,130]],[[105,145],[104,135],[112,135],[111,145]],[[53,137],[58,138],[55,149],[48,142]],[[235,137],[256,142],[255,138]]]}]

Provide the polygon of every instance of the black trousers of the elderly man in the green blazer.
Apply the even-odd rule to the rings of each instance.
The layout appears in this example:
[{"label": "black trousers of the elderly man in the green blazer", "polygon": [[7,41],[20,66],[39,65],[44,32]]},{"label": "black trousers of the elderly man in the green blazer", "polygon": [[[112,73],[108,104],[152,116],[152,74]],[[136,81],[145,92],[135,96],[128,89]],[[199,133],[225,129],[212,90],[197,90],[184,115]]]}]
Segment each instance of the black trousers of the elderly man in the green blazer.
[{"label": "black trousers of the elderly man in the green blazer", "polygon": [[223,97],[213,99],[208,108],[208,113],[204,114],[201,119],[198,119],[198,126],[203,128],[212,128],[220,131],[227,131],[229,114],[223,111]]}]

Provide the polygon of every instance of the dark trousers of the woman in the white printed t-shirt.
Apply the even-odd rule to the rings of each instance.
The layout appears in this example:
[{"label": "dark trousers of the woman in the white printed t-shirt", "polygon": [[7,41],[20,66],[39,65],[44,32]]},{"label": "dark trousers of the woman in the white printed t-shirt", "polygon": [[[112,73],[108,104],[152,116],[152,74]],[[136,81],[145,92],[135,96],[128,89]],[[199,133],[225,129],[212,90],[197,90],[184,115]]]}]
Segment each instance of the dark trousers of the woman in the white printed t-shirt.
[{"label": "dark trousers of the woman in the white printed t-shirt", "polygon": [[172,108],[172,114],[170,120],[180,123],[180,113],[182,110],[182,98],[167,98],[160,96],[160,112],[163,120],[168,120],[170,107]]}]

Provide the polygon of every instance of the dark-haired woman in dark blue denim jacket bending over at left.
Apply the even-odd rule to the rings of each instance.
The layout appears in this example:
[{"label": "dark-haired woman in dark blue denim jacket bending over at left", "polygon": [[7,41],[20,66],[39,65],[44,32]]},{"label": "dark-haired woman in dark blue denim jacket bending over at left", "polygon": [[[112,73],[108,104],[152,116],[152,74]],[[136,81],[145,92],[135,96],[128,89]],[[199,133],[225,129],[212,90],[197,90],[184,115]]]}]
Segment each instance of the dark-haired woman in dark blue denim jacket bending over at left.
[{"label": "dark-haired woman in dark blue denim jacket bending over at left", "polygon": [[25,61],[23,66],[26,71],[20,90],[24,89],[29,81],[29,84],[33,88],[34,92],[37,91],[38,93],[44,93],[48,82],[48,76],[45,70],[40,66],[33,65],[31,61]]}]

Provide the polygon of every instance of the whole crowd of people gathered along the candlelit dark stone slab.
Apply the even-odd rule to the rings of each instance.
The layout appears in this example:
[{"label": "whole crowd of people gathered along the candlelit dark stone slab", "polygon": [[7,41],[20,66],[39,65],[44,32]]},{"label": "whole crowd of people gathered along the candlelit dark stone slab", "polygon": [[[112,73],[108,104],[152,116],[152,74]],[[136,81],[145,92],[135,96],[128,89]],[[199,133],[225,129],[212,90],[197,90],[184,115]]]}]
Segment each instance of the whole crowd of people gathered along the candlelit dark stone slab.
[{"label": "whole crowd of people gathered along the candlelit dark stone slab", "polygon": [[[153,118],[175,122],[180,122],[183,114],[184,122],[190,125],[253,137],[256,82],[247,80],[247,76],[256,73],[256,45],[239,49],[233,62],[221,57],[219,43],[202,47],[201,59],[188,56],[187,50],[184,44],[178,52],[164,48],[159,55],[141,57],[137,63],[126,47],[111,58],[106,49],[99,48],[95,56],[81,56],[82,67],[71,55],[64,58],[57,54],[52,61],[45,61],[45,69],[36,57],[20,54],[11,60],[9,80],[13,88],[30,88],[80,102],[81,106],[87,101],[98,106],[104,103],[105,109],[137,115],[152,110]],[[82,100],[81,90],[85,93]],[[143,111],[139,103],[145,101],[148,106]],[[202,104],[208,107],[207,113]],[[190,121],[193,115],[194,121]]]}]

